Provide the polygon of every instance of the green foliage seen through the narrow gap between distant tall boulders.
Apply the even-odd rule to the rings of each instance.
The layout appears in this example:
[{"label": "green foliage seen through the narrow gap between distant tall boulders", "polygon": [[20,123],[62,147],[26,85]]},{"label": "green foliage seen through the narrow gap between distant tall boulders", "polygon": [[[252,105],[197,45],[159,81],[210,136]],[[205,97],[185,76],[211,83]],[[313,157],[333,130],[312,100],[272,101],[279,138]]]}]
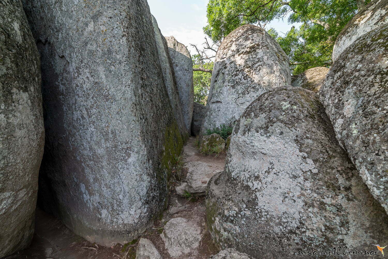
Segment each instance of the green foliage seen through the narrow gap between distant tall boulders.
[{"label": "green foliage seen through the narrow gap between distant tall boulders", "polygon": [[[213,70],[214,63],[204,62],[201,57],[196,54],[192,56],[193,68],[199,68],[200,66],[205,69]],[[194,81],[194,102],[206,105],[208,100],[208,94],[210,90],[211,73],[203,71],[193,71]]]}]

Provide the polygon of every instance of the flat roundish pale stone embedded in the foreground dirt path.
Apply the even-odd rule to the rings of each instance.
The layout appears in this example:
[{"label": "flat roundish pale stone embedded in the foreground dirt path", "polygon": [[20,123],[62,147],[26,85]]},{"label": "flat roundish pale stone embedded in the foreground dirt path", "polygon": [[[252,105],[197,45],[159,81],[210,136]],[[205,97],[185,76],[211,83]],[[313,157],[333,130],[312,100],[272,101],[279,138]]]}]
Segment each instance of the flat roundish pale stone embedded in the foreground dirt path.
[{"label": "flat roundish pale stone embedded in the foreground dirt path", "polygon": [[160,236],[171,257],[188,253],[196,254],[201,240],[201,229],[187,219],[177,217],[167,222]]}]

